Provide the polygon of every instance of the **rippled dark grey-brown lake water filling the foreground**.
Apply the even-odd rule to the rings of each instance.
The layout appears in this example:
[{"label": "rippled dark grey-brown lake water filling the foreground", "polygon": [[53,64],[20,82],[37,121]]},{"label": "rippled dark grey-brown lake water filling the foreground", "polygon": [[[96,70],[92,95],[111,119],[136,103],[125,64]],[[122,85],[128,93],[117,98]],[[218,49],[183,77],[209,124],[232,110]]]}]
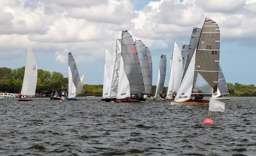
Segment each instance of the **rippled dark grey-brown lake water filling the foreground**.
[{"label": "rippled dark grey-brown lake water filling the foreground", "polygon": [[255,155],[256,98],[224,113],[169,102],[0,100],[0,155]]}]

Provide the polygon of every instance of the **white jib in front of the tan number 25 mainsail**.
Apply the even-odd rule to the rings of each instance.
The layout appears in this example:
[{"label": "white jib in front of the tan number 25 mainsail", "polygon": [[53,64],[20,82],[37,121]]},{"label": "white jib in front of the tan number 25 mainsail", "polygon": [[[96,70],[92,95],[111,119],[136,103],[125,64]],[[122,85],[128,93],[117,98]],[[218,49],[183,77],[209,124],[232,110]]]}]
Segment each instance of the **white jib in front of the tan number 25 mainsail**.
[{"label": "white jib in front of the tan number 25 mainsail", "polygon": [[183,102],[189,100],[190,95],[192,93],[193,88],[193,80],[194,80],[194,73],[195,73],[195,59],[196,59],[196,50],[192,56],[192,59],[188,65],[188,69],[185,73],[185,76],[181,82],[179,91],[177,92],[175,101]]}]

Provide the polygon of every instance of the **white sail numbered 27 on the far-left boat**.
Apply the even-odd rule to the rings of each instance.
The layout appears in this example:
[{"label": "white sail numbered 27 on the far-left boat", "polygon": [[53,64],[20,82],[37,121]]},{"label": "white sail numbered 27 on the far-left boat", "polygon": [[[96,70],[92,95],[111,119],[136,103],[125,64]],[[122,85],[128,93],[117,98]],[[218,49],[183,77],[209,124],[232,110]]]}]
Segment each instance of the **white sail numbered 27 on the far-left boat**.
[{"label": "white sail numbered 27 on the far-left boat", "polygon": [[28,47],[27,60],[23,84],[21,88],[22,95],[35,95],[37,83],[37,65],[33,51]]}]

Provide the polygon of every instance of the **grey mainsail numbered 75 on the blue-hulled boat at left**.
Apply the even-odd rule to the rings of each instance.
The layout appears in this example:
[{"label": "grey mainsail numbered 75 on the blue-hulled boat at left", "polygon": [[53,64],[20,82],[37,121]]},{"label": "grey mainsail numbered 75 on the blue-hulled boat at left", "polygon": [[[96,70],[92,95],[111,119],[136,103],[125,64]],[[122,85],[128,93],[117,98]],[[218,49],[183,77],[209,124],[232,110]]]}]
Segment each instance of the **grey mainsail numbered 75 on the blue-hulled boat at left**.
[{"label": "grey mainsail numbered 75 on the blue-hulled boat at left", "polygon": [[79,71],[78,71],[78,68],[77,68],[77,65],[76,65],[76,61],[75,61],[73,55],[70,52],[68,53],[68,66],[69,66],[69,69],[72,73],[72,81],[73,81],[74,85],[76,86],[76,94],[84,93],[82,83],[81,83],[81,79],[80,79],[80,75],[79,75]]}]

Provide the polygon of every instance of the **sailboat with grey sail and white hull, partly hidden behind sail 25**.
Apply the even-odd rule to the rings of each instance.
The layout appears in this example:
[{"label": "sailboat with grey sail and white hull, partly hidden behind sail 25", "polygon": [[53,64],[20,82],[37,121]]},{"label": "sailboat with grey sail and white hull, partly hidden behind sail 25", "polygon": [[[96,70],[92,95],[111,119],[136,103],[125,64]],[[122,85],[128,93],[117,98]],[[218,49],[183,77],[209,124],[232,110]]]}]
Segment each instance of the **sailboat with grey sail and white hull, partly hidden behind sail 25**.
[{"label": "sailboat with grey sail and white hull, partly hidden behind sail 25", "polygon": [[228,85],[226,83],[225,76],[224,76],[221,68],[219,68],[217,95],[214,95],[213,99],[215,99],[215,100],[230,100],[230,98],[228,98],[228,97],[223,97],[223,95],[228,95],[228,94],[229,94],[228,93]]}]

